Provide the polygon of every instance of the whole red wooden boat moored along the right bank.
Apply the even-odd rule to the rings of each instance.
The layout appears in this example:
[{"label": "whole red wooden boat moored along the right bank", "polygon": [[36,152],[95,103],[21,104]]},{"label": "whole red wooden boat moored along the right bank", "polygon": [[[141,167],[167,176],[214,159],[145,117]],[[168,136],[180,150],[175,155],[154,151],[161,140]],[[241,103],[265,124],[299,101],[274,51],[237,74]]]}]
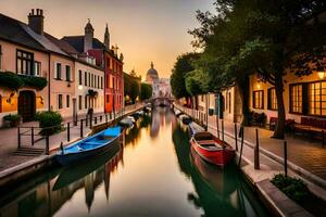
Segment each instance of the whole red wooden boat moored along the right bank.
[{"label": "whole red wooden boat moored along the right bank", "polygon": [[197,132],[190,143],[203,159],[217,166],[225,166],[235,157],[235,150],[210,132]]}]

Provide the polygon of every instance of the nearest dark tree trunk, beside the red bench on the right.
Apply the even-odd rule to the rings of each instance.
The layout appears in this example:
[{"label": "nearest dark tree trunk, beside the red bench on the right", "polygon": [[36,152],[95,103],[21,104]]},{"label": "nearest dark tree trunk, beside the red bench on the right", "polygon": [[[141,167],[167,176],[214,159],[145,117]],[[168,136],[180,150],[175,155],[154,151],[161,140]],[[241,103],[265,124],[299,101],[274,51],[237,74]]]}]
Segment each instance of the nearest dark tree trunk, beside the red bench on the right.
[{"label": "nearest dark tree trunk, beside the red bench on the right", "polygon": [[285,107],[284,107],[284,82],[281,72],[276,73],[275,75],[275,92],[277,99],[277,125],[275,127],[275,131],[273,138],[284,139],[284,130],[285,130]]}]

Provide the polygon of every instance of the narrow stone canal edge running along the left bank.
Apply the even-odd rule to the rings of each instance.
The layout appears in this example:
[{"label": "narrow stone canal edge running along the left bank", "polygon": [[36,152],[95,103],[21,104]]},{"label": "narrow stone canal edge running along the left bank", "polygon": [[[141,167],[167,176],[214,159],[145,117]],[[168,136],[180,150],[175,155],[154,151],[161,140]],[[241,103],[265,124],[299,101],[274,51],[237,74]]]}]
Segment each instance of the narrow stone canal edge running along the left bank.
[{"label": "narrow stone canal edge running along the left bank", "polygon": [[[98,125],[93,125],[91,129],[88,129],[85,131],[85,137],[88,137],[93,131],[99,131],[100,129],[104,129],[108,126],[112,126],[118,122],[118,119],[122,119],[125,116],[131,115],[136,113],[137,111],[140,111],[145,107],[145,104],[138,104],[134,107],[130,106],[129,110],[125,111],[122,116],[116,117],[116,119],[109,120],[108,123],[100,123]],[[62,136],[62,140],[65,139],[65,135]],[[63,143],[64,146],[74,143],[83,138],[75,138],[70,142]],[[53,146],[50,150],[50,155],[41,155],[38,157],[34,157],[28,161],[17,162],[15,166],[4,169],[0,171],[0,193],[7,192],[8,190],[12,189],[16,184],[20,184],[20,182],[34,177],[40,173],[43,173],[49,169],[53,169],[58,166],[58,163],[55,161],[55,152],[60,149],[59,144],[57,146]],[[8,156],[10,157],[10,155]]]}]

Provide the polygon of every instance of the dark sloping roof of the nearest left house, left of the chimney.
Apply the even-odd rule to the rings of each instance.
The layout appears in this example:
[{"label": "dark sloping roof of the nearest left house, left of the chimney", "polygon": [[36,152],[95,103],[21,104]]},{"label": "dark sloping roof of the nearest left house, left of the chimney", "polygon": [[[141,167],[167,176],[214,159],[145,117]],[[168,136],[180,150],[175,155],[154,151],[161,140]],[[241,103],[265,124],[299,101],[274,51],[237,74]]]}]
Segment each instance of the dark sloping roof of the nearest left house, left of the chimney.
[{"label": "dark sloping roof of the nearest left house, left of the chimney", "polygon": [[45,47],[26,31],[29,28],[26,24],[0,13],[0,38],[34,49],[45,50]]}]

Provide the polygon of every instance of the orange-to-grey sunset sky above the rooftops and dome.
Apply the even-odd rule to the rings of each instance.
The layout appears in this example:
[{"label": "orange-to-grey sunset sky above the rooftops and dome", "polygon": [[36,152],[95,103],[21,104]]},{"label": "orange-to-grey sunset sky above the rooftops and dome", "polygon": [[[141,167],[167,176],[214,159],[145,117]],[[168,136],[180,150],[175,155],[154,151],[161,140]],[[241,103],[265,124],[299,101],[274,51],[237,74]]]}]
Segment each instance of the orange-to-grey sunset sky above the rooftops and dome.
[{"label": "orange-to-grey sunset sky above the rooftops and dome", "polygon": [[192,51],[187,30],[198,26],[196,10],[213,10],[213,0],[0,0],[0,13],[27,23],[32,8],[45,10],[45,29],[58,38],[83,35],[87,18],[103,40],[109,24],[111,44],[125,56],[125,72],[145,77],[154,62],[170,77],[180,53]]}]

